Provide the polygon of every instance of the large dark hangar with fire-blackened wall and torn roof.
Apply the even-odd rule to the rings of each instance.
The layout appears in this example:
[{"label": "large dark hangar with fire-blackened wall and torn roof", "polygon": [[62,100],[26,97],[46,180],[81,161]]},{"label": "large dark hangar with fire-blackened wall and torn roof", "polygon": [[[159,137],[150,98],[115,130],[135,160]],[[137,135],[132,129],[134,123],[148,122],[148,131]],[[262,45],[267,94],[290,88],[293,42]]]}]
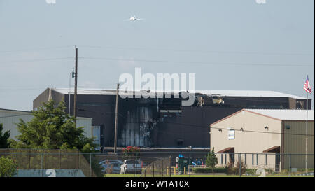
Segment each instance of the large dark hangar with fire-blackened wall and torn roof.
[{"label": "large dark hangar with fire-blackened wall and torn roof", "polygon": [[[123,94],[121,91],[119,94]],[[274,91],[196,90],[195,103],[182,106],[181,98],[118,99],[117,146],[141,148],[200,148],[209,150],[209,124],[243,108],[305,109],[306,99]],[[47,88],[33,101],[33,109],[48,99],[64,99],[69,89]],[[308,103],[311,107],[311,99]],[[92,134],[99,146],[114,146],[116,90],[78,89],[77,116],[92,118]],[[73,90],[70,96],[73,115]]]}]

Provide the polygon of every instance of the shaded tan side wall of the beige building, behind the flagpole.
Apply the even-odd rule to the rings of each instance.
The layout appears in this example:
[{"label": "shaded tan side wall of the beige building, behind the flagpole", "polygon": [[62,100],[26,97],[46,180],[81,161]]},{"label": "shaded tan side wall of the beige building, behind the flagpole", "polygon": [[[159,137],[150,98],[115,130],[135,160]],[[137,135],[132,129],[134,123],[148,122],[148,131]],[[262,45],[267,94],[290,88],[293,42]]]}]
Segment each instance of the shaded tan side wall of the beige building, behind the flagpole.
[{"label": "shaded tan side wall of the beige building, behind the flagpole", "polygon": [[[287,129],[286,127],[290,127]],[[306,121],[284,121],[284,153],[305,153],[305,136],[306,134]],[[303,135],[296,135],[303,134]],[[308,133],[313,136],[308,136],[307,150],[308,168],[314,168],[314,121],[308,121]],[[305,168],[305,155],[291,155],[291,167],[302,169]],[[289,156],[286,155],[284,161],[284,168],[288,169]]]}]

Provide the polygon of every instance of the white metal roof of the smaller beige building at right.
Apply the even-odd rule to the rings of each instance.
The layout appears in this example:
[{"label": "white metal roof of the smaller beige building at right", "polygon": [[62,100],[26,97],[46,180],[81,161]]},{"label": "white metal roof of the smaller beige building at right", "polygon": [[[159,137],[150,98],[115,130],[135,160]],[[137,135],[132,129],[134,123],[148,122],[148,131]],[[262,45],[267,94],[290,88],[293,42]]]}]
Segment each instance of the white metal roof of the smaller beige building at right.
[{"label": "white metal roof of the smaller beige building at right", "polygon": [[279,120],[314,120],[314,110],[293,110],[293,109],[244,109],[262,115],[267,115]]}]

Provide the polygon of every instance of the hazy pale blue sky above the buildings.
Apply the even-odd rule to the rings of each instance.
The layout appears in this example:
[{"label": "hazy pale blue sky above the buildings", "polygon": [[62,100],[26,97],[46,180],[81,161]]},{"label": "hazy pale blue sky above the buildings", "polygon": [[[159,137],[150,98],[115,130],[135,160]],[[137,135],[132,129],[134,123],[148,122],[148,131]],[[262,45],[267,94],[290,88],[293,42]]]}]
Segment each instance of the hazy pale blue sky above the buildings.
[{"label": "hazy pale blue sky above the buildings", "polygon": [[69,87],[75,45],[78,88],[115,89],[140,67],[195,73],[196,90],[307,97],[308,75],[314,91],[313,0],[47,1],[0,0],[0,108]]}]

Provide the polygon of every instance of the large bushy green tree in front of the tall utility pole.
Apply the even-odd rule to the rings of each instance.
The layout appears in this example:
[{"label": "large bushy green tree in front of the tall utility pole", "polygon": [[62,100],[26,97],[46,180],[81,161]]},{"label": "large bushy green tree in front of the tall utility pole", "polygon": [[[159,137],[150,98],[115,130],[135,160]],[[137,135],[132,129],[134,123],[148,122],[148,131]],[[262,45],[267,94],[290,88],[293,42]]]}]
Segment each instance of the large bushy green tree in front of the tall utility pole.
[{"label": "large bushy green tree in front of the tall utility pole", "polygon": [[64,101],[43,103],[29,122],[20,119],[18,141],[10,139],[11,148],[78,149],[94,151],[93,139],[84,136],[83,127],[75,127],[74,117],[65,112]]}]

